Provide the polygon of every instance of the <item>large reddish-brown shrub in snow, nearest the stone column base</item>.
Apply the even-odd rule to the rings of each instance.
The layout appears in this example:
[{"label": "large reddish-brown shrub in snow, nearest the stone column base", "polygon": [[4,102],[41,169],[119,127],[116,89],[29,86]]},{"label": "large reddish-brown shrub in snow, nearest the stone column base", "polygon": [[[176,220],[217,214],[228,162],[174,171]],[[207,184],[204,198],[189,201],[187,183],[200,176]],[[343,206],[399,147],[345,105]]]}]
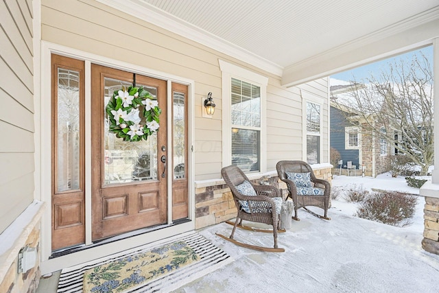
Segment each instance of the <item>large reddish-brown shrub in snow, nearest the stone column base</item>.
[{"label": "large reddish-brown shrub in snow, nearest the stone column base", "polygon": [[407,226],[412,224],[417,200],[412,194],[376,192],[359,204],[356,215],[392,226]]}]

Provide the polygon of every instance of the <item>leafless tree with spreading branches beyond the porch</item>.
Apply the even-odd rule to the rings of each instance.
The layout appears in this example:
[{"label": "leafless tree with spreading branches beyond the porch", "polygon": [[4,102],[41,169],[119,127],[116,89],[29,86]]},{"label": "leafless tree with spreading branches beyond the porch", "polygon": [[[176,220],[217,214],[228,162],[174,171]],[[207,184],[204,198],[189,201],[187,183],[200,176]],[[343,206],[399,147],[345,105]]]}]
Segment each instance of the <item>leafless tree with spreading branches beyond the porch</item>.
[{"label": "leafless tree with spreading branches beyond the porch", "polygon": [[389,63],[378,77],[352,82],[335,104],[361,132],[387,141],[427,174],[434,161],[434,125],[433,71],[425,55],[418,52],[412,60]]}]

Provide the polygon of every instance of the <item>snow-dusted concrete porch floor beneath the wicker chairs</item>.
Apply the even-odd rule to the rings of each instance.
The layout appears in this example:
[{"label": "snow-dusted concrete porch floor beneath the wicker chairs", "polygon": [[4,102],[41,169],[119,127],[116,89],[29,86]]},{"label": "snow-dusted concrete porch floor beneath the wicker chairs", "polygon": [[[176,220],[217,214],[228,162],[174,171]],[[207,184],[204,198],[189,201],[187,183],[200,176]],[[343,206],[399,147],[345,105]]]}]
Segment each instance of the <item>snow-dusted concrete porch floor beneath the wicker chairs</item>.
[{"label": "snow-dusted concrete porch floor beneath the wicker chairs", "polygon": [[[438,292],[439,255],[420,246],[423,231],[388,226],[329,210],[320,220],[303,209],[299,222],[278,235],[285,253],[261,253],[218,237],[233,226],[198,231],[235,259],[182,286],[191,292]],[[237,229],[235,239],[272,246],[272,233]],[[56,292],[59,274],[42,279],[37,292]]]}]

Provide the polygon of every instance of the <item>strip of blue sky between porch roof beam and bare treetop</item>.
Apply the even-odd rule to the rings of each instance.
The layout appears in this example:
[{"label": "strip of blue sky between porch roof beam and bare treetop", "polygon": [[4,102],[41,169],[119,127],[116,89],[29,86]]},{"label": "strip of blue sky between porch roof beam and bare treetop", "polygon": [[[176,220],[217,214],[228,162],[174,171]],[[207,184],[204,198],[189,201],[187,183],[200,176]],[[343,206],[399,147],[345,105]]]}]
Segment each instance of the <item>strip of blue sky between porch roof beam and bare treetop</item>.
[{"label": "strip of blue sky between porch roof beam and bare treetop", "polygon": [[[331,78],[335,80],[363,80],[365,78],[368,78],[370,76],[370,73],[373,73],[374,75],[379,75],[381,72],[381,69],[387,67],[389,63],[394,62],[395,60],[412,60],[412,56],[414,54],[417,54],[419,52],[422,52],[429,60],[433,60],[433,46],[423,47],[422,49],[416,49],[414,51],[407,52],[405,54],[401,54],[398,56],[394,56],[392,58],[384,59],[378,62],[370,63],[369,65],[364,65],[362,67],[357,67],[355,69],[351,69],[348,71],[343,71],[341,73],[337,73],[334,75],[331,75]],[[432,62],[431,62],[432,64]],[[355,77],[355,78],[354,78]]]}]

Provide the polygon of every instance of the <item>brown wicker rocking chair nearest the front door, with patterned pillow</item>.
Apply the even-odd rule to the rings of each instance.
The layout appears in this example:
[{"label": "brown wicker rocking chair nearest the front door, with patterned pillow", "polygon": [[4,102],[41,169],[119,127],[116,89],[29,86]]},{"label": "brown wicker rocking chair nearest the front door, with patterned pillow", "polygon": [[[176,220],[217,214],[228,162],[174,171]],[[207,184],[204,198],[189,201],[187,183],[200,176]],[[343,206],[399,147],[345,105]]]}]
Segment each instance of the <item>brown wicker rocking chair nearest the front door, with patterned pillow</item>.
[{"label": "brown wicker rocking chair nearest the front door, with patterned pillow", "polygon": [[[270,185],[253,185],[250,183],[250,180],[248,180],[246,174],[235,165],[222,168],[221,174],[230,188],[230,191],[232,191],[233,200],[235,201],[238,213],[235,223],[227,221],[228,224],[233,224],[233,231],[230,237],[226,237],[219,233],[217,233],[217,235],[233,244],[246,248],[283,253],[285,249],[278,248],[277,245],[277,233],[285,232],[285,229],[278,231],[279,213],[283,202],[278,189]],[[270,224],[273,226],[273,229],[268,230],[244,226],[242,224],[243,220]],[[254,246],[244,242],[238,242],[233,239],[237,227],[250,231],[273,233],[274,248]]]}]

